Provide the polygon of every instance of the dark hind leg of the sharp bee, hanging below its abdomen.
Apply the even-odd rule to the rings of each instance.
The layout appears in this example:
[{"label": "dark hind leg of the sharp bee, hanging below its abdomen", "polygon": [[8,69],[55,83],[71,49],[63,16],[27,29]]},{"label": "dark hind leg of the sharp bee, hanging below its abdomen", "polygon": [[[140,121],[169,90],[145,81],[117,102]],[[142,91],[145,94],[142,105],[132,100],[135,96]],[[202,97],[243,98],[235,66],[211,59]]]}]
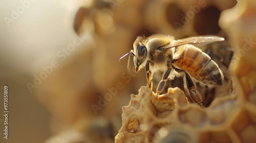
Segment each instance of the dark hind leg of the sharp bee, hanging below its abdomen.
[{"label": "dark hind leg of the sharp bee, hanging below its abdomen", "polygon": [[184,76],[183,76],[184,88],[189,93],[189,97],[191,98],[191,100],[193,102],[197,103],[198,105],[200,105],[201,107],[204,107],[203,106],[203,98],[202,98],[201,94],[198,92],[197,86],[193,82],[193,80],[190,78],[190,76],[186,73],[185,70],[181,70],[178,68],[175,68],[175,70],[178,73],[181,73],[181,72],[184,73]]}]

